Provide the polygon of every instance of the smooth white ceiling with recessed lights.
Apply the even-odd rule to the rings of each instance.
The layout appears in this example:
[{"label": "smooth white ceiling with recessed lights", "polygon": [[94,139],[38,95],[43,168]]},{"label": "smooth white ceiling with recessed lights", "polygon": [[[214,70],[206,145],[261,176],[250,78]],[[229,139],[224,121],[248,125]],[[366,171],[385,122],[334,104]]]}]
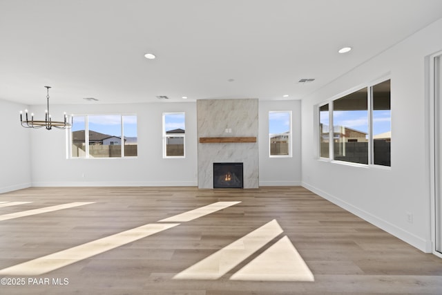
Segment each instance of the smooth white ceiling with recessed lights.
[{"label": "smooth white ceiling with recessed lights", "polygon": [[441,17],[442,0],[0,0],[0,99],[302,99]]}]

